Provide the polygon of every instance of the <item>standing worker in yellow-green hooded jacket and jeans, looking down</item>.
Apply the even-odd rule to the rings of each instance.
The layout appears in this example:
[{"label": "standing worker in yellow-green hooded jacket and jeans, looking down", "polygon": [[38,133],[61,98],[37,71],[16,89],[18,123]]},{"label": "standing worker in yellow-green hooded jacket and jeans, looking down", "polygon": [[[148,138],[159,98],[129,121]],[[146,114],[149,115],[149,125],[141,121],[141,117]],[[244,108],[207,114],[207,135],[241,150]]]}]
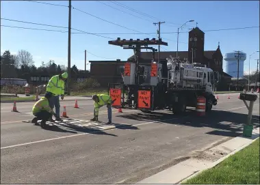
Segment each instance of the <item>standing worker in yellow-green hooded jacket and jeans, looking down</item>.
[{"label": "standing worker in yellow-green hooded jacket and jeans, looking down", "polygon": [[[47,84],[46,92],[51,93],[53,96],[49,100],[49,104],[51,106],[51,109],[55,106],[55,113],[57,115],[56,120],[60,121],[60,96],[62,96],[62,100],[64,99],[64,87],[66,79],[68,78],[68,73],[64,72],[59,75],[52,76],[49,80],[49,83]],[[51,121],[53,122],[53,119],[51,118]]]}]

